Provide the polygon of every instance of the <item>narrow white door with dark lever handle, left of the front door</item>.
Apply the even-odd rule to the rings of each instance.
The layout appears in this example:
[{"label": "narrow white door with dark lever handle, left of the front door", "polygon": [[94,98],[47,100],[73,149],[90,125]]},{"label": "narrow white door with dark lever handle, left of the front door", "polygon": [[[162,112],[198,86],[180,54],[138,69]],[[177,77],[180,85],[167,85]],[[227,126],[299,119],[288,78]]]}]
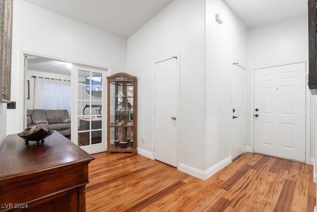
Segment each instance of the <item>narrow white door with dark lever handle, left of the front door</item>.
[{"label": "narrow white door with dark lever handle, left of the front door", "polygon": [[232,105],[231,157],[234,159],[246,151],[246,72],[236,65],[233,65]]}]

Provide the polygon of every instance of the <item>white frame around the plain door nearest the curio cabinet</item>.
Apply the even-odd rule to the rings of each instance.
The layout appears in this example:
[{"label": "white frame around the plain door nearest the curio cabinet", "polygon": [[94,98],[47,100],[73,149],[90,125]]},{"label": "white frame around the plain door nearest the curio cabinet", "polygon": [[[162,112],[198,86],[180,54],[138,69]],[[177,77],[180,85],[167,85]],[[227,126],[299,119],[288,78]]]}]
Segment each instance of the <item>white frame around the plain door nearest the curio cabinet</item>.
[{"label": "white frame around the plain door nearest the curio cabinet", "polygon": [[[176,61],[177,61],[177,119],[176,119],[176,124],[177,124],[177,166],[176,168],[178,169],[179,167],[179,163],[180,163],[180,155],[179,155],[179,144],[180,144],[180,132],[179,132],[179,129],[180,129],[180,53],[176,53],[176,54],[173,54],[171,56],[167,56],[165,58],[162,58],[162,59],[159,59],[159,60],[156,60],[153,62],[153,68],[152,68],[152,92],[153,92],[153,98],[152,98],[152,126],[155,126],[155,78],[154,78],[154,74],[155,74],[155,64],[157,63],[160,63],[160,62],[163,62],[163,61],[166,61],[166,60],[169,60],[169,59],[172,59],[172,58],[175,58]],[[153,127],[152,129],[152,158],[151,159],[155,159],[155,151],[154,151],[154,145],[155,145],[155,142],[154,142],[154,135],[155,135],[155,127]]]}]

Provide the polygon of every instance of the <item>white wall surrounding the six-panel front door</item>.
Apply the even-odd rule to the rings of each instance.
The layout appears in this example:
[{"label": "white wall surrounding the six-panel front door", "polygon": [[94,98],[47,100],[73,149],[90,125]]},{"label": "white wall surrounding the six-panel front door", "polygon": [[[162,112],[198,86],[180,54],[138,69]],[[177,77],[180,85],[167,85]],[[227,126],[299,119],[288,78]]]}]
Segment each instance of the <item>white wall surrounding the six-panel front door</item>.
[{"label": "white wall surrounding the six-panel front door", "polygon": [[[308,17],[306,15],[249,29],[248,81],[256,68],[308,61]],[[252,105],[252,84],[248,84],[248,105]],[[311,96],[311,157],[315,155],[316,97]],[[247,146],[253,151],[251,124],[252,111],[248,111]],[[308,163],[310,161],[307,161]]]}]

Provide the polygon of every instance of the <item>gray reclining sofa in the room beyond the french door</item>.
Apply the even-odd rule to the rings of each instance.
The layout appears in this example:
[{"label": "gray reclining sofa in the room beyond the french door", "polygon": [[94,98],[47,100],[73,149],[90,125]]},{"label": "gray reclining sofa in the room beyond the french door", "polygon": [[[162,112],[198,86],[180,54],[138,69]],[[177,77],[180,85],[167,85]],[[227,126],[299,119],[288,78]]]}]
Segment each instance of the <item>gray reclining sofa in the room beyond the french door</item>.
[{"label": "gray reclining sofa in the room beyond the french door", "polygon": [[32,124],[29,116],[32,115],[33,122],[40,127],[49,131],[55,130],[65,137],[70,136],[70,118],[67,110],[34,109],[27,110],[27,115],[27,126]]}]

